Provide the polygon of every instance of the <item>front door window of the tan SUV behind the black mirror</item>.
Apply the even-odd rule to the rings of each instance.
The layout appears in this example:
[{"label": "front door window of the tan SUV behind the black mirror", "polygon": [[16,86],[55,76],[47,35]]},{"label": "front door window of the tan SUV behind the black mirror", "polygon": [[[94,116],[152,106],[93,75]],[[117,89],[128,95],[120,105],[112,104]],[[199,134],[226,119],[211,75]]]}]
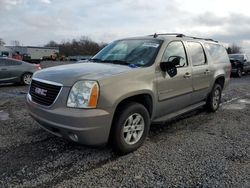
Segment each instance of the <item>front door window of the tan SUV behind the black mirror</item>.
[{"label": "front door window of the tan SUV behind the black mirror", "polygon": [[177,67],[184,67],[187,66],[187,58],[184,46],[181,41],[174,41],[171,42],[162,57],[162,62],[172,61],[173,58],[180,57],[180,65]]}]

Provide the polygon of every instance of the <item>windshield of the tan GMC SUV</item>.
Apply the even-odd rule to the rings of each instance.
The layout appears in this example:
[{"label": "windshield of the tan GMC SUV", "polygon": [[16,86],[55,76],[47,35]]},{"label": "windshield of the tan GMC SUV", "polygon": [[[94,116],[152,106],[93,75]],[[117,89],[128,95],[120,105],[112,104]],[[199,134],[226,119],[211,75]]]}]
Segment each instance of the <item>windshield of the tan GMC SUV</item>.
[{"label": "windshield of the tan GMC SUV", "polygon": [[162,41],[156,39],[129,39],[115,41],[90,61],[124,64],[130,66],[150,66],[153,64]]}]

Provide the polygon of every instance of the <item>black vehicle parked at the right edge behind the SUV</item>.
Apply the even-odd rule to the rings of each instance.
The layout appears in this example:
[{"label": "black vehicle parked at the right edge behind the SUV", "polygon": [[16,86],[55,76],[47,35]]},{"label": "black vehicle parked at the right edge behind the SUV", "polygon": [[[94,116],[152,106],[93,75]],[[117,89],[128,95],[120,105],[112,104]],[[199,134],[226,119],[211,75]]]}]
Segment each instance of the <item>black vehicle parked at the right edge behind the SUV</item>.
[{"label": "black vehicle parked at the right edge behind the SUV", "polygon": [[242,73],[250,72],[250,60],[246,54],[229,54],[229,58],[232,65],[232,74],[241,77]]}]

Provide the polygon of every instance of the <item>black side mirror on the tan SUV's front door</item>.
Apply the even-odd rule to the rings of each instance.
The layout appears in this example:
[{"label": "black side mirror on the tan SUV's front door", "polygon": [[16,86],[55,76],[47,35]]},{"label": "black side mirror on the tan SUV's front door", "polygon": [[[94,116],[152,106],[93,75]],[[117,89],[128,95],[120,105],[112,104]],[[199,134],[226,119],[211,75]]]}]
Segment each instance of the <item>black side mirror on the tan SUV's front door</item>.
[{"label": "black side mirror on the tan SUV's front door", "polygon": [[172,61],[161,62],[160,67],[163,72],[167,72],[172,78],[177,74],[177,66],[180,65],[180,58],[175,57]]}]

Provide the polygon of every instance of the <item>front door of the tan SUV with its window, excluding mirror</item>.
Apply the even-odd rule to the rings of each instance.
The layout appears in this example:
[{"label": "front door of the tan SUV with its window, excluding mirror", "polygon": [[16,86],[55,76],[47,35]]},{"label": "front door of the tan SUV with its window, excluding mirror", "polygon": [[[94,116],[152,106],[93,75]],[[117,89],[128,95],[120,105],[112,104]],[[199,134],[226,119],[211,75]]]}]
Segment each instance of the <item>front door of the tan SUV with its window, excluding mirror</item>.
[{"label": "front door of the tan SUV with its window, excluding mirror", "polygon": [[178,57],[177,75],[170,77],[167,72],[157,73],[158,108],[157,116],[163,116],[182,109],[191,102],[192,74],[185,47],[181,41],[173,41],[167,46],[162,62]]}]

